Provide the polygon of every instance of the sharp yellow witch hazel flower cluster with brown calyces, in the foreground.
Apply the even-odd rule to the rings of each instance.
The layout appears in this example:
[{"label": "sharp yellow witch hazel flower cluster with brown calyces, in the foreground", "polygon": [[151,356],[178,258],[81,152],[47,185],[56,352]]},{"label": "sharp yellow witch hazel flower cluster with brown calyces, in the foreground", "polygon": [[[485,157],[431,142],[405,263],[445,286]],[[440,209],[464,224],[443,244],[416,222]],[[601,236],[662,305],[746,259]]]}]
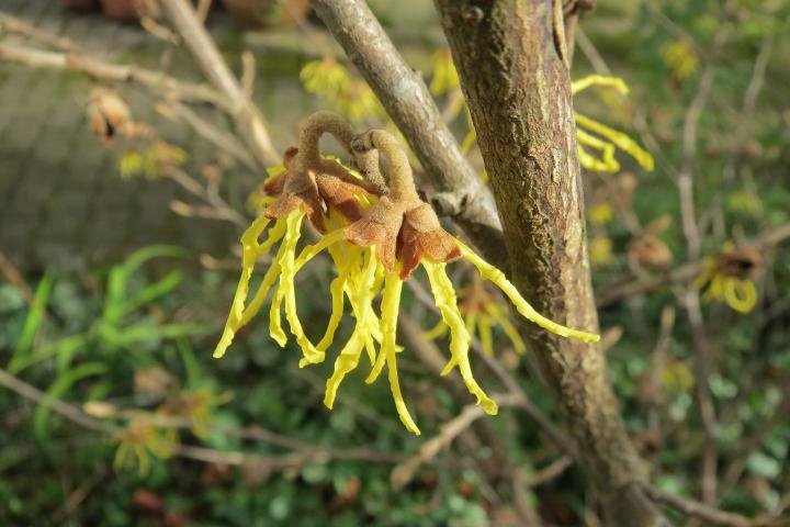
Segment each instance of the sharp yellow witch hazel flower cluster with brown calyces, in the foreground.
[{"label": "sharp yellow witch hazel flower cluster with brown calyces, in the foreground", "polygon": [[[359,173],[320,156],[318,139],[324,133],[338,139]],[[386,168],[383,173],[382,166]],[[403,281],[422,267],[442,323],[450,333],[450,360],[442,373],[458,368],[478,404],[495,414],[496,402],[477,384],[472,372],[470,330],[445,270],[456,259],[471,262],[481,279],[495,283],[527,319],[557,335],[588,343],[598,340],[597,335],[571,329],[540,315],[500,270],[447,233],[430,205],[419,198],[408,157],[387,132],[356,134],[338,115],[318,112],[302,124],[298,148],[286,152],[283,167],[263,186],[269,204],[241,236],[241,277],[215,357],[225,354],[236,332],[260,311],[269,291],[274,289],[269,317],[272,338],[281,346],[287,341],[282,327],[284,309],[290,333],[302,349],[300,367],[321,362],[335,340],[348,301],[354,327],[335,359],[334,372],[326,383],[325,405],[332,407],[340,384],[359,366],[364,351],[371,365],[365,382],[374,382],[386,366],[400,421],[407,429],[419,434],[400,392],[397,354],[402,348],[396,344],[396,328]],[[304,218],[320,233],[320,238],[297,251]],[[280,243],[276,255],[248,302],[256,261],[276,243]],[[329,287],[331,314],[327,328],[318,344],[313,344],[300,323],[294,279],[307,261],[324,250],[332,259],[337,277]],[[376,310],[374,303],[380,295]]]}]

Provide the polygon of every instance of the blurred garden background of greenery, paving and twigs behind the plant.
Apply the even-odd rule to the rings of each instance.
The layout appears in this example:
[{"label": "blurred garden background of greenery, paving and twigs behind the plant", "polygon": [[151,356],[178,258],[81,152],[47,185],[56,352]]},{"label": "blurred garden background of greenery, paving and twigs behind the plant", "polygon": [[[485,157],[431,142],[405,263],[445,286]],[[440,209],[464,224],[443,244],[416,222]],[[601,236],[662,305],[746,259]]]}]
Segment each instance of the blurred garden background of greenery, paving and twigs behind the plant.
[{"label": "blurred garden background of greenery, paving and twigs behind the plant", "polygon": [[[486,178],[431,2],[369,4]],[[199,8],[278,152],[319,109],[394,130],[305,1]],[[790,525],[789,15],[787,0],[599,0],[572,72],[630,87],[575,96],[613,134],[586,130],[618,146],[612,164],[587,144],[602,165],[585,164],[584,184],[629,434],[662,491],[770,525]],[[462,310],[497,313],[478,325],[477,378],[514,381],[529,407],[438,452],[420,447],[471,401],[431,368],[447,341],[429,332],[425,277],[399,360],[419,438],[359,372],[327,411],[331,361],[300,369],[263,318],[212,359],[264,175],[216,105],[138,69],[113,81],[109,64],[205,83],[154,0],[0,3],[0,525],[599,525],[535,424],[564,434],[506,304],[463,268]],[[325,260],[300,276],[308,333],[332,277]]]}]

